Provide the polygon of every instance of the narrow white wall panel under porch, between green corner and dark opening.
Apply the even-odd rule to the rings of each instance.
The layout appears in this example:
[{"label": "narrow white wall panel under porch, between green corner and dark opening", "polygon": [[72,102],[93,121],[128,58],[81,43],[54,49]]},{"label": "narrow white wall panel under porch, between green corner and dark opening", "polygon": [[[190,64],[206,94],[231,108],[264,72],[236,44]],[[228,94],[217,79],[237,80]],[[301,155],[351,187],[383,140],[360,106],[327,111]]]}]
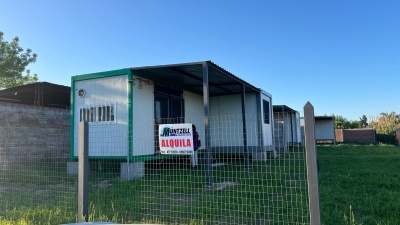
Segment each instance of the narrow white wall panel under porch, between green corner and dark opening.
[{"label": "narrow white wall panel under porch, between green corner and dark opening", "polygon": [[154,83],[142,82],[139,88],[137,76],[132,85],[132,155],[151,155],[155,150]]}]

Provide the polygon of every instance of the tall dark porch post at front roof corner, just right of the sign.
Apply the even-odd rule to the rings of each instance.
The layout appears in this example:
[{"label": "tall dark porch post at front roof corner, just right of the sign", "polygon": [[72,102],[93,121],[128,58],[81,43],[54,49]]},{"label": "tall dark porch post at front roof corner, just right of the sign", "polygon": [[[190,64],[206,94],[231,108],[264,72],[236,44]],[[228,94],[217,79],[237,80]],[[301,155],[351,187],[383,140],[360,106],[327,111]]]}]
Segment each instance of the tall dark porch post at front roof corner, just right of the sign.
[{"label": "tall dark porch post at front roof corner, just right of the sign", "polygon": [[205,153],[206,153],[206,186],[212,186],[212,166],[211,166],[211,134],[210,134],[210,95],[208,88],[208,64],[203,62],[203,102],[204,102],[204,131],[205,131]]}]

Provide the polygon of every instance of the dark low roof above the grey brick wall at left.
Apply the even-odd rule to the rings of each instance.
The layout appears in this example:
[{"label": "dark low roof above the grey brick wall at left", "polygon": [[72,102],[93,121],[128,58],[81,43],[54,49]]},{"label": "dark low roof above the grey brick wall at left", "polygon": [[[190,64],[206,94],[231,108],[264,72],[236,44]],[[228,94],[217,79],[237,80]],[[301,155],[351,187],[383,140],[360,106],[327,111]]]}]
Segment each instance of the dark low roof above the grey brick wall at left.
[{"label": "dark low roof above the grey brick wall at left", "polygon": [[67,86],[36,82],[0,90],[0,102],[68,109],[70,92]]}]

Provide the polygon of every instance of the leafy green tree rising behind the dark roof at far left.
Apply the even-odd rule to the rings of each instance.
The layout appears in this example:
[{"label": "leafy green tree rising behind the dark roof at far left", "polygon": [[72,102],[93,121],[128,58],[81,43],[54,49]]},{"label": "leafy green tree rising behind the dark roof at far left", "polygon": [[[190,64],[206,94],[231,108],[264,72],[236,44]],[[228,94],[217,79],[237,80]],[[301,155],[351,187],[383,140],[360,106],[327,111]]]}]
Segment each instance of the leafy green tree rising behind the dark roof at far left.
[{"label": "leafy green tree rising behind the dark roof at far left", "polygon": [[18,37],[8,42],[4,41],[3,35],[0,31],[0,89],[38,81],[37,75],[30,75],[30,70],[26,69],[36,61],[37,54],[20,47]]}]

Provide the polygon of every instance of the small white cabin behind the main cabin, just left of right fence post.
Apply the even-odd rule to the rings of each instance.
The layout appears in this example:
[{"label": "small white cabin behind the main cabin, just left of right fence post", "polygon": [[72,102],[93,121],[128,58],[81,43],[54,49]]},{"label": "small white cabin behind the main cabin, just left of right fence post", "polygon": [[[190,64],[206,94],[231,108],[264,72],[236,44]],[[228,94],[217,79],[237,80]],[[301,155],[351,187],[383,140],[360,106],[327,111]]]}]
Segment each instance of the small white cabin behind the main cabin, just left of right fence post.
[{"label": "small white cabin behind the main cabin, just left of right fence post", "polygon": [[300,114],[286,105],[274,105],[274,143],[278,153],[288,151],[288,146],[303,142]]}]

